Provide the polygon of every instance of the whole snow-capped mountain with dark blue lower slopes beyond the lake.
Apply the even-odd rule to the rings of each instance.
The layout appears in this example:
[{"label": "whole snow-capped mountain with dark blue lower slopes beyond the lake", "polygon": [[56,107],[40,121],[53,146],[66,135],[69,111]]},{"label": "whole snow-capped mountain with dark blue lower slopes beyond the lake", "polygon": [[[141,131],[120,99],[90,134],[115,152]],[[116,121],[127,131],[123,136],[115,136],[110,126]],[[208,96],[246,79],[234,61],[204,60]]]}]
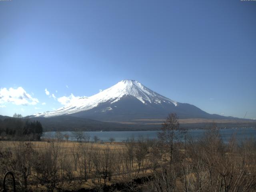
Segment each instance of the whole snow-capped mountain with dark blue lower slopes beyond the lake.
[{"label": "whole snow-capped mountain with dark blue lower slopes beyond the lake", "polygon": [[52,112],[34,114],[34,117],[72,116],[105,122],[129,122],[164,119],[169,113],[176,113],[182,119],[228,118],[208,114],[194,105],[166,98],[135,80],[122,80],[98,94],[79,98]]}]

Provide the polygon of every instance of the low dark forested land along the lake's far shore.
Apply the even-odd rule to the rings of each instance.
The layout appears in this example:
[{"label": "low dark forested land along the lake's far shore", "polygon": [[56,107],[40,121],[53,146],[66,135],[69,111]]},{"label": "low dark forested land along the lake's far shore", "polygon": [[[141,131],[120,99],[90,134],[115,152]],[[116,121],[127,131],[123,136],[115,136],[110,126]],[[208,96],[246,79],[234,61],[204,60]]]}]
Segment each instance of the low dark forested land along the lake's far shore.
[{"label": "low dark forested land along the lake's far shore", "polygon": [[[44,131],[127,131],[127,130],[159,130],[163,121],[161,120],[143,120],[133,122],[101,122],[92,119],[78,118],[73,116],[54,116],[49,118],[36,117],[31,120],[38,120],[42,123]],[[255,121],[223,121],[223,120],[187,120],[180,119],[180,127],[194,128],[209,128],[213,123],[220,128],[255,126]]]}]

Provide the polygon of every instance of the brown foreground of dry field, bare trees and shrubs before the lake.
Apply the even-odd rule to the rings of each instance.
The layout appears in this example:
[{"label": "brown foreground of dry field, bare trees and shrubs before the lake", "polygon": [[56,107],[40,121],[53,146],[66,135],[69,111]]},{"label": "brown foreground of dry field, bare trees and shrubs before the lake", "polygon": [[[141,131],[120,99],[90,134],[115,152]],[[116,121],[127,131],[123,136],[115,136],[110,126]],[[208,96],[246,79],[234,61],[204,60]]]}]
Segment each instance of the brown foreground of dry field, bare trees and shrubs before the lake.
[{"label": "brown foreground of dry field, bare trees and shrubs before the lake", "polygon": [[0,182],[11,171],[17,191],[255,191],[254,139],[234,136],[224,143],[214,128],[199,140],[179,142],[178,134],[184,132],[171,115],[158,140],[101,144],[64,141],[58,134],[48,142],[2,141]]}]

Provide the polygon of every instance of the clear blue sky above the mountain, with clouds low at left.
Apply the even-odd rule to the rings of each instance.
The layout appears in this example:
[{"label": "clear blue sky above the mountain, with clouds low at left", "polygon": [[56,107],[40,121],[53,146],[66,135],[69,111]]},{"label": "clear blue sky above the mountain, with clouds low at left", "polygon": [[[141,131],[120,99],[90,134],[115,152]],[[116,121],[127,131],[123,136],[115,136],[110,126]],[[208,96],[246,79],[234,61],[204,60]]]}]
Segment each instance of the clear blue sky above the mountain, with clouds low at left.
[{"label": "clear blue sky above the mountain, with clouds low at left", "polygon": [[9,0],[0,18],[2,115],[133,79],[209,113],[256,118],[255,1]]}]

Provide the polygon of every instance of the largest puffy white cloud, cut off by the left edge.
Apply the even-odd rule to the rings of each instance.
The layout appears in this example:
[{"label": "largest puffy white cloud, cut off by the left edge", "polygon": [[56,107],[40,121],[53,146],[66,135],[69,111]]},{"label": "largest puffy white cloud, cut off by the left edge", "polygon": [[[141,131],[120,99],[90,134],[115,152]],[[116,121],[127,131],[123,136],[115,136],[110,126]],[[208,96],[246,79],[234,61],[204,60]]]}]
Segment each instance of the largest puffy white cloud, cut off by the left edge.
[{"label": "largest puffy white cloud, cut off by the left edge", "polygon": [[15,88],[1,88],[0,89],[0,104],[12,103],[15,105],[36,105],[37,98],[33,98],[22,87]]}]

